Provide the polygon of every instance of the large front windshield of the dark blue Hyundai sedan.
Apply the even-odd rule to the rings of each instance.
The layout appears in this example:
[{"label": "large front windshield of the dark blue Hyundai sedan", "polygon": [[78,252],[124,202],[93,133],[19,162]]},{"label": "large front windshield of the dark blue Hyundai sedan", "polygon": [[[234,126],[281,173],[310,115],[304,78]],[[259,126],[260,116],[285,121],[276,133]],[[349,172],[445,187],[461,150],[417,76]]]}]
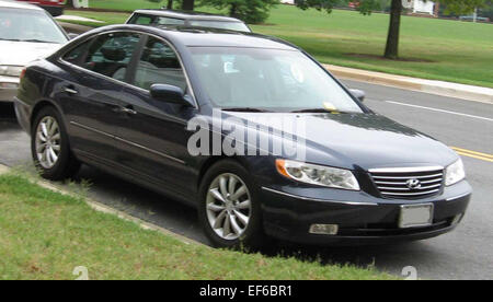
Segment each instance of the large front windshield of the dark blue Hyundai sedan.
[{"label": "large front windshield of the dark blue Hyundai sedan", "polygon": [[363,113],[325,70],[298,50],[190,47],[216,107],[257,112]]}]

